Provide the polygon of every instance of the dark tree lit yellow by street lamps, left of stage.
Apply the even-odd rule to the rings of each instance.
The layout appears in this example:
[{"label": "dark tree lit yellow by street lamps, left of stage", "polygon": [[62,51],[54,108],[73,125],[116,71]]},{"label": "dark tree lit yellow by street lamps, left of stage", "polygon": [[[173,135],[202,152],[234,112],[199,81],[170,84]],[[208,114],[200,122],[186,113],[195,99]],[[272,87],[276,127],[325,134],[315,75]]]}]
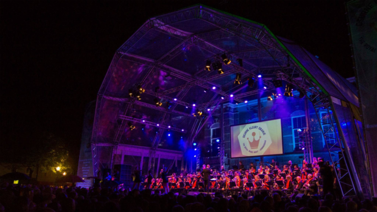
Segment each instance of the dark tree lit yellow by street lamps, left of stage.
[{"label": "dark tree lit yellow by street lamps, left of stage", "polygon": [[44,172],[51,170],[56,173],[56,167],[60,167],[60,171],[70,169],[66,162],[68,155],[66,142],[62,138],[56,137],[53,133],[44,132],[27,148],[22,161],[29,168],[30,177],[34,170],[36,171],[37,180],[39,170]]}]

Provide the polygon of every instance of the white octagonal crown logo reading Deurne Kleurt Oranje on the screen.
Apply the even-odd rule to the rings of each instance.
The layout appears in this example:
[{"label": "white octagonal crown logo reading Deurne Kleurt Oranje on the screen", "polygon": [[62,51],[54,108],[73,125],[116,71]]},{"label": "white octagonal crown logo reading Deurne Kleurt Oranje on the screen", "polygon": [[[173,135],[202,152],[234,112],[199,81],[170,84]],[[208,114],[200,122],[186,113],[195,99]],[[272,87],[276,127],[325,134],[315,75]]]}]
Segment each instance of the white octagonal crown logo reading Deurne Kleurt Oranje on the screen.
[{"label": "white octagonal crown logo reading Deurne Kleurt Oranje on the screen", "polygon": [[248,124],[238,135],[242,155],[263,155],[271,145],[269,129],[265,123]]}]

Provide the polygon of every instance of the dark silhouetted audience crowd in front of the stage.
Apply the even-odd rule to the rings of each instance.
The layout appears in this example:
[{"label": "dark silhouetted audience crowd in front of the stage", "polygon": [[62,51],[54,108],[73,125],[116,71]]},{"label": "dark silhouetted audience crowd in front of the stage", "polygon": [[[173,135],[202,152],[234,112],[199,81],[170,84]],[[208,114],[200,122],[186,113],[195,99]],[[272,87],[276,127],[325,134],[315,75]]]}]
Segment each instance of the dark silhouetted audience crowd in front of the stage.
[{"label": "dark silhouetted audience crowd in front of the stage", "polygon": [[262,192],[224,198],[198,194],[152,194],[152,191],[110,188],[63,188],[32,185],[0,187],[0,212],[377,212],[371,200],[335,200],[331,194],[304,198]]}]

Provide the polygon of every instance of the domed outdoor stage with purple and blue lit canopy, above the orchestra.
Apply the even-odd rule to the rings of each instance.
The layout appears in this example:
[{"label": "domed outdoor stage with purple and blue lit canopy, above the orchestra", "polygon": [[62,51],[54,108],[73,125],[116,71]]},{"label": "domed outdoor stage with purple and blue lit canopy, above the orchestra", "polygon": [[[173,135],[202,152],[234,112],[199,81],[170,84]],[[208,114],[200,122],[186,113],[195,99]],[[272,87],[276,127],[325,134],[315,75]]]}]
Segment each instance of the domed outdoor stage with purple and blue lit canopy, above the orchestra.
[{"label": "domed outdoor stage with purple and blue lit canopy, above the orchestra", "polygon": [[116,51],[86,109],[78,175],[125,165],[130,184],[135,165],[157,177],[162,164],[179,174],[320,157],[342,195],[371,197],[357,106],[354,85],[295,42],[195,5],[149,19]]}]

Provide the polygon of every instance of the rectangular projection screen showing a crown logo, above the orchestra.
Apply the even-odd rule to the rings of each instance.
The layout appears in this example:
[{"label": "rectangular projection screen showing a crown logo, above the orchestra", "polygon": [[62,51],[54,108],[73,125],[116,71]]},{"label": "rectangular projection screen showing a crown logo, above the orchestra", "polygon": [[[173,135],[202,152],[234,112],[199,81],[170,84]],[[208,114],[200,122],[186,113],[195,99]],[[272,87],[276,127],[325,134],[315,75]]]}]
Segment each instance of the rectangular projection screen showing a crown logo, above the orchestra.
[{"label": "rectangular projection screen showing a crown logo, above the orchestra", "polygon": [[230,157],[255,157],[283,154],[281,120],[230,126]]}]

